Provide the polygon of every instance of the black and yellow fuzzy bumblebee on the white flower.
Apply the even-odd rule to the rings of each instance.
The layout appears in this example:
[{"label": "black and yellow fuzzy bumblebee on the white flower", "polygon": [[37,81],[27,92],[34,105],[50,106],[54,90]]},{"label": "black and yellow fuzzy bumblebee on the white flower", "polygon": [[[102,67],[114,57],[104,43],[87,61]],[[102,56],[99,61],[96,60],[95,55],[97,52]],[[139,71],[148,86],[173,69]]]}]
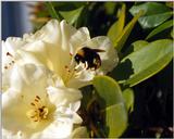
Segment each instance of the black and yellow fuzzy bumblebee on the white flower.
[{"label": "black and yellow fuzzy bumblebee on the white flower", "polygon": [[104,50],[84,47],[77,51],[74,60],[77,64],[80,62],[84,63],[86,70],[90,68],[96,71],[101,66],[101,59],[98,52],[104,52]]}]

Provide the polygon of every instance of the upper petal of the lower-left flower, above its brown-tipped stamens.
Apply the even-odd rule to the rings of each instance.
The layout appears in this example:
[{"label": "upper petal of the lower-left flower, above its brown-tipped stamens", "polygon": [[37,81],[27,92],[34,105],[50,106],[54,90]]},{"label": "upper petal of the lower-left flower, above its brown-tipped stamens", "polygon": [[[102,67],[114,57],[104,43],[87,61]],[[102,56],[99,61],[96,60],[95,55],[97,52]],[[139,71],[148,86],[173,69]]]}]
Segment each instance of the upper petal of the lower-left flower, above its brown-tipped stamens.
[{"label": "upper petal of the lower-left flower, above its brown-tipped stamens", "polygon": [[34,64],[15,67],[10,76],[11,88],[18,91],[23,90],[28,98],[33,98],[36,93],[42,94],[44,89],[47,87],[47,79],[51,73],[44,66],[36,66]]}]

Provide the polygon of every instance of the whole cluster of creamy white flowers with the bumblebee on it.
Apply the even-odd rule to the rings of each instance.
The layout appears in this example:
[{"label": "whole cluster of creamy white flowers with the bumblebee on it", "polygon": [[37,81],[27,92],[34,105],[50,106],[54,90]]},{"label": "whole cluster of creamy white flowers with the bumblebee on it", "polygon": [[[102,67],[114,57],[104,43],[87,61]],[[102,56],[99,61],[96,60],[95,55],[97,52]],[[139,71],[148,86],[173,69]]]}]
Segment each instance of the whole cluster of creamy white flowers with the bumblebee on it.
[{"label": "whole cluster of creamy white flowers with the bumblebee on it", "polygon": [[84,136],[79,88],[117,61],[108,37],[90,38],[86,27],[65,21],[51,20],[35,34],[2,41],[3,138]]}]

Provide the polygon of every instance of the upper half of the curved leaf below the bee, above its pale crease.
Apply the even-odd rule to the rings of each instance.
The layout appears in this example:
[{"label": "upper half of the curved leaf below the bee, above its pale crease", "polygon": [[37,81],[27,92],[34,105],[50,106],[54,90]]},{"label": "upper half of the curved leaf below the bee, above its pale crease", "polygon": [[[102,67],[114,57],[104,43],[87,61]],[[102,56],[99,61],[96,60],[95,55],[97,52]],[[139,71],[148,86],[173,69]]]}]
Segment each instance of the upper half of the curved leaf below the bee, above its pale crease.
[{"label": "upper half of the curved leaf below the bee, above its pale crease", "polygon": [[119,84],[109,76],[96,76],[94,86],[104,101],[104,108],[116,103],[123,103],[122,91]]}]

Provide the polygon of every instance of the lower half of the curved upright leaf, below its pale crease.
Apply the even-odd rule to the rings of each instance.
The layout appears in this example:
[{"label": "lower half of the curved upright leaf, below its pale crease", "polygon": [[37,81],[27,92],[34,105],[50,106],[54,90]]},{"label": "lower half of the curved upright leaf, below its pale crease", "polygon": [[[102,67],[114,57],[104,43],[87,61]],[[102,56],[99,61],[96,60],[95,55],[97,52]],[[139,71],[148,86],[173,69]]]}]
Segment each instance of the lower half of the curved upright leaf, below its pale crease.
[{"label": "lower half of the curved upright leaf, below its pale crease", "polygon": [[120,137],[127,127],[127,112],[123,103],[114,104],[105,110],[105,125],[109,138]]}]

